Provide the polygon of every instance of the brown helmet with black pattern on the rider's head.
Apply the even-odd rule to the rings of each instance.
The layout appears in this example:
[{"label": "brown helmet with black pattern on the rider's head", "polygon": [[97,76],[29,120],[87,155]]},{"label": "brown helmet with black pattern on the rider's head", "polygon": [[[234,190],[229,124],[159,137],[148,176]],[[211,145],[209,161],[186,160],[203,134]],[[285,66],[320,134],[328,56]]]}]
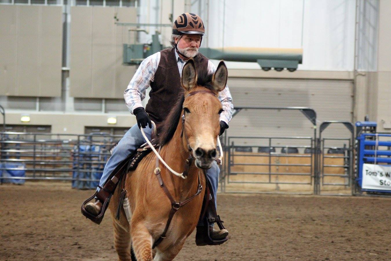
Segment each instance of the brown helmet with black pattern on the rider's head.
[{"label": "brown helmet with black pattern on the rider's head", "polygon": [[205,34],[204,23],[197,14],[184,13],[172,25],[173,34]]}]

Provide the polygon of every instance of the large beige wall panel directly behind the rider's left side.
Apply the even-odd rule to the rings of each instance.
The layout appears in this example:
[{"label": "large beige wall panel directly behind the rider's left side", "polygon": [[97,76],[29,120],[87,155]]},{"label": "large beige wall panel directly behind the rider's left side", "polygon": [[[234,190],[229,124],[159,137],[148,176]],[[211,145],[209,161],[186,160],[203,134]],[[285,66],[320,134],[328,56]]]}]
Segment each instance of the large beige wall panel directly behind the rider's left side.
[{"label": "large beige wall panel directly behind the rider's left side", "polygon": [[[135,66],[122,65],[127,29],[118,22],[136,22],[131,7],[71,7],[70,95],[122,98]],[[131,37],[134,36],[132,32]],[[133,41],[133,38],[131,38]]]}]

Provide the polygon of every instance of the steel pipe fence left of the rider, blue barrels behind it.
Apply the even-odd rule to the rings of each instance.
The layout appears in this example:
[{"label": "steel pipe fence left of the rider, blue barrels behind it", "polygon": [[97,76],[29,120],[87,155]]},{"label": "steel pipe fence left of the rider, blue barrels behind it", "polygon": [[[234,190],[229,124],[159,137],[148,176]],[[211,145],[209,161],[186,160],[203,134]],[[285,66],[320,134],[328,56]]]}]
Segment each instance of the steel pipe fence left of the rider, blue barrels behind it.
[{"label": "steel pipe fence left of the rider, blue barrels behind it", "polygon": [[[73,185],[99,182],[112,148],[122,135],[52,133],[0,133],[1,182],[11,180],[70,180]],[[6,171],[24,171],[21,177]]]}]

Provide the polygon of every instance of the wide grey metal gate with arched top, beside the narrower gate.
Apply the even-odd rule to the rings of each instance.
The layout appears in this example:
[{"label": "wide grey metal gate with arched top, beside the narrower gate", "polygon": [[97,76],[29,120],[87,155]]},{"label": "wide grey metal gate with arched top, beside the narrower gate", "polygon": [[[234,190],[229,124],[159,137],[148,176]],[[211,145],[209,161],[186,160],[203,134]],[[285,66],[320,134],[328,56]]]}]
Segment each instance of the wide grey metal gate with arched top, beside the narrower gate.
[{"label": "wide grey metal gate with arched top, beside the narrower gate", "polygon": [[[240,107],[240,110],[299,110],[312,123],[313,137],[229,137],[223,140],[220,187],[223,192],[312,194],[316,186],[316,112],[307,107]],[[240,139],[253,140],[239,146]],[[278,142],[277,142],[278,141]],[[227,157],[228,156],[228,157]],[[240,184],[246,184],[240,185]],[[251,185],[252,184],[252,185]]]}]

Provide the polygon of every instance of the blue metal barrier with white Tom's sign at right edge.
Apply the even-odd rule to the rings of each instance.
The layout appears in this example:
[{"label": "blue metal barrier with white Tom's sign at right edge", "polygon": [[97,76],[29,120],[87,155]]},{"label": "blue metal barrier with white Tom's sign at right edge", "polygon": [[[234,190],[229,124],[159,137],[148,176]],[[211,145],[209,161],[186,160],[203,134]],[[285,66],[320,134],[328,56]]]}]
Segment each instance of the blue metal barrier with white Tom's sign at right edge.
[{"label": "blue metal barrier with white Tom's sign at right edge", "polygon": [[363,133],[357,141],[355,192],[391,193],[391,134]]}]

